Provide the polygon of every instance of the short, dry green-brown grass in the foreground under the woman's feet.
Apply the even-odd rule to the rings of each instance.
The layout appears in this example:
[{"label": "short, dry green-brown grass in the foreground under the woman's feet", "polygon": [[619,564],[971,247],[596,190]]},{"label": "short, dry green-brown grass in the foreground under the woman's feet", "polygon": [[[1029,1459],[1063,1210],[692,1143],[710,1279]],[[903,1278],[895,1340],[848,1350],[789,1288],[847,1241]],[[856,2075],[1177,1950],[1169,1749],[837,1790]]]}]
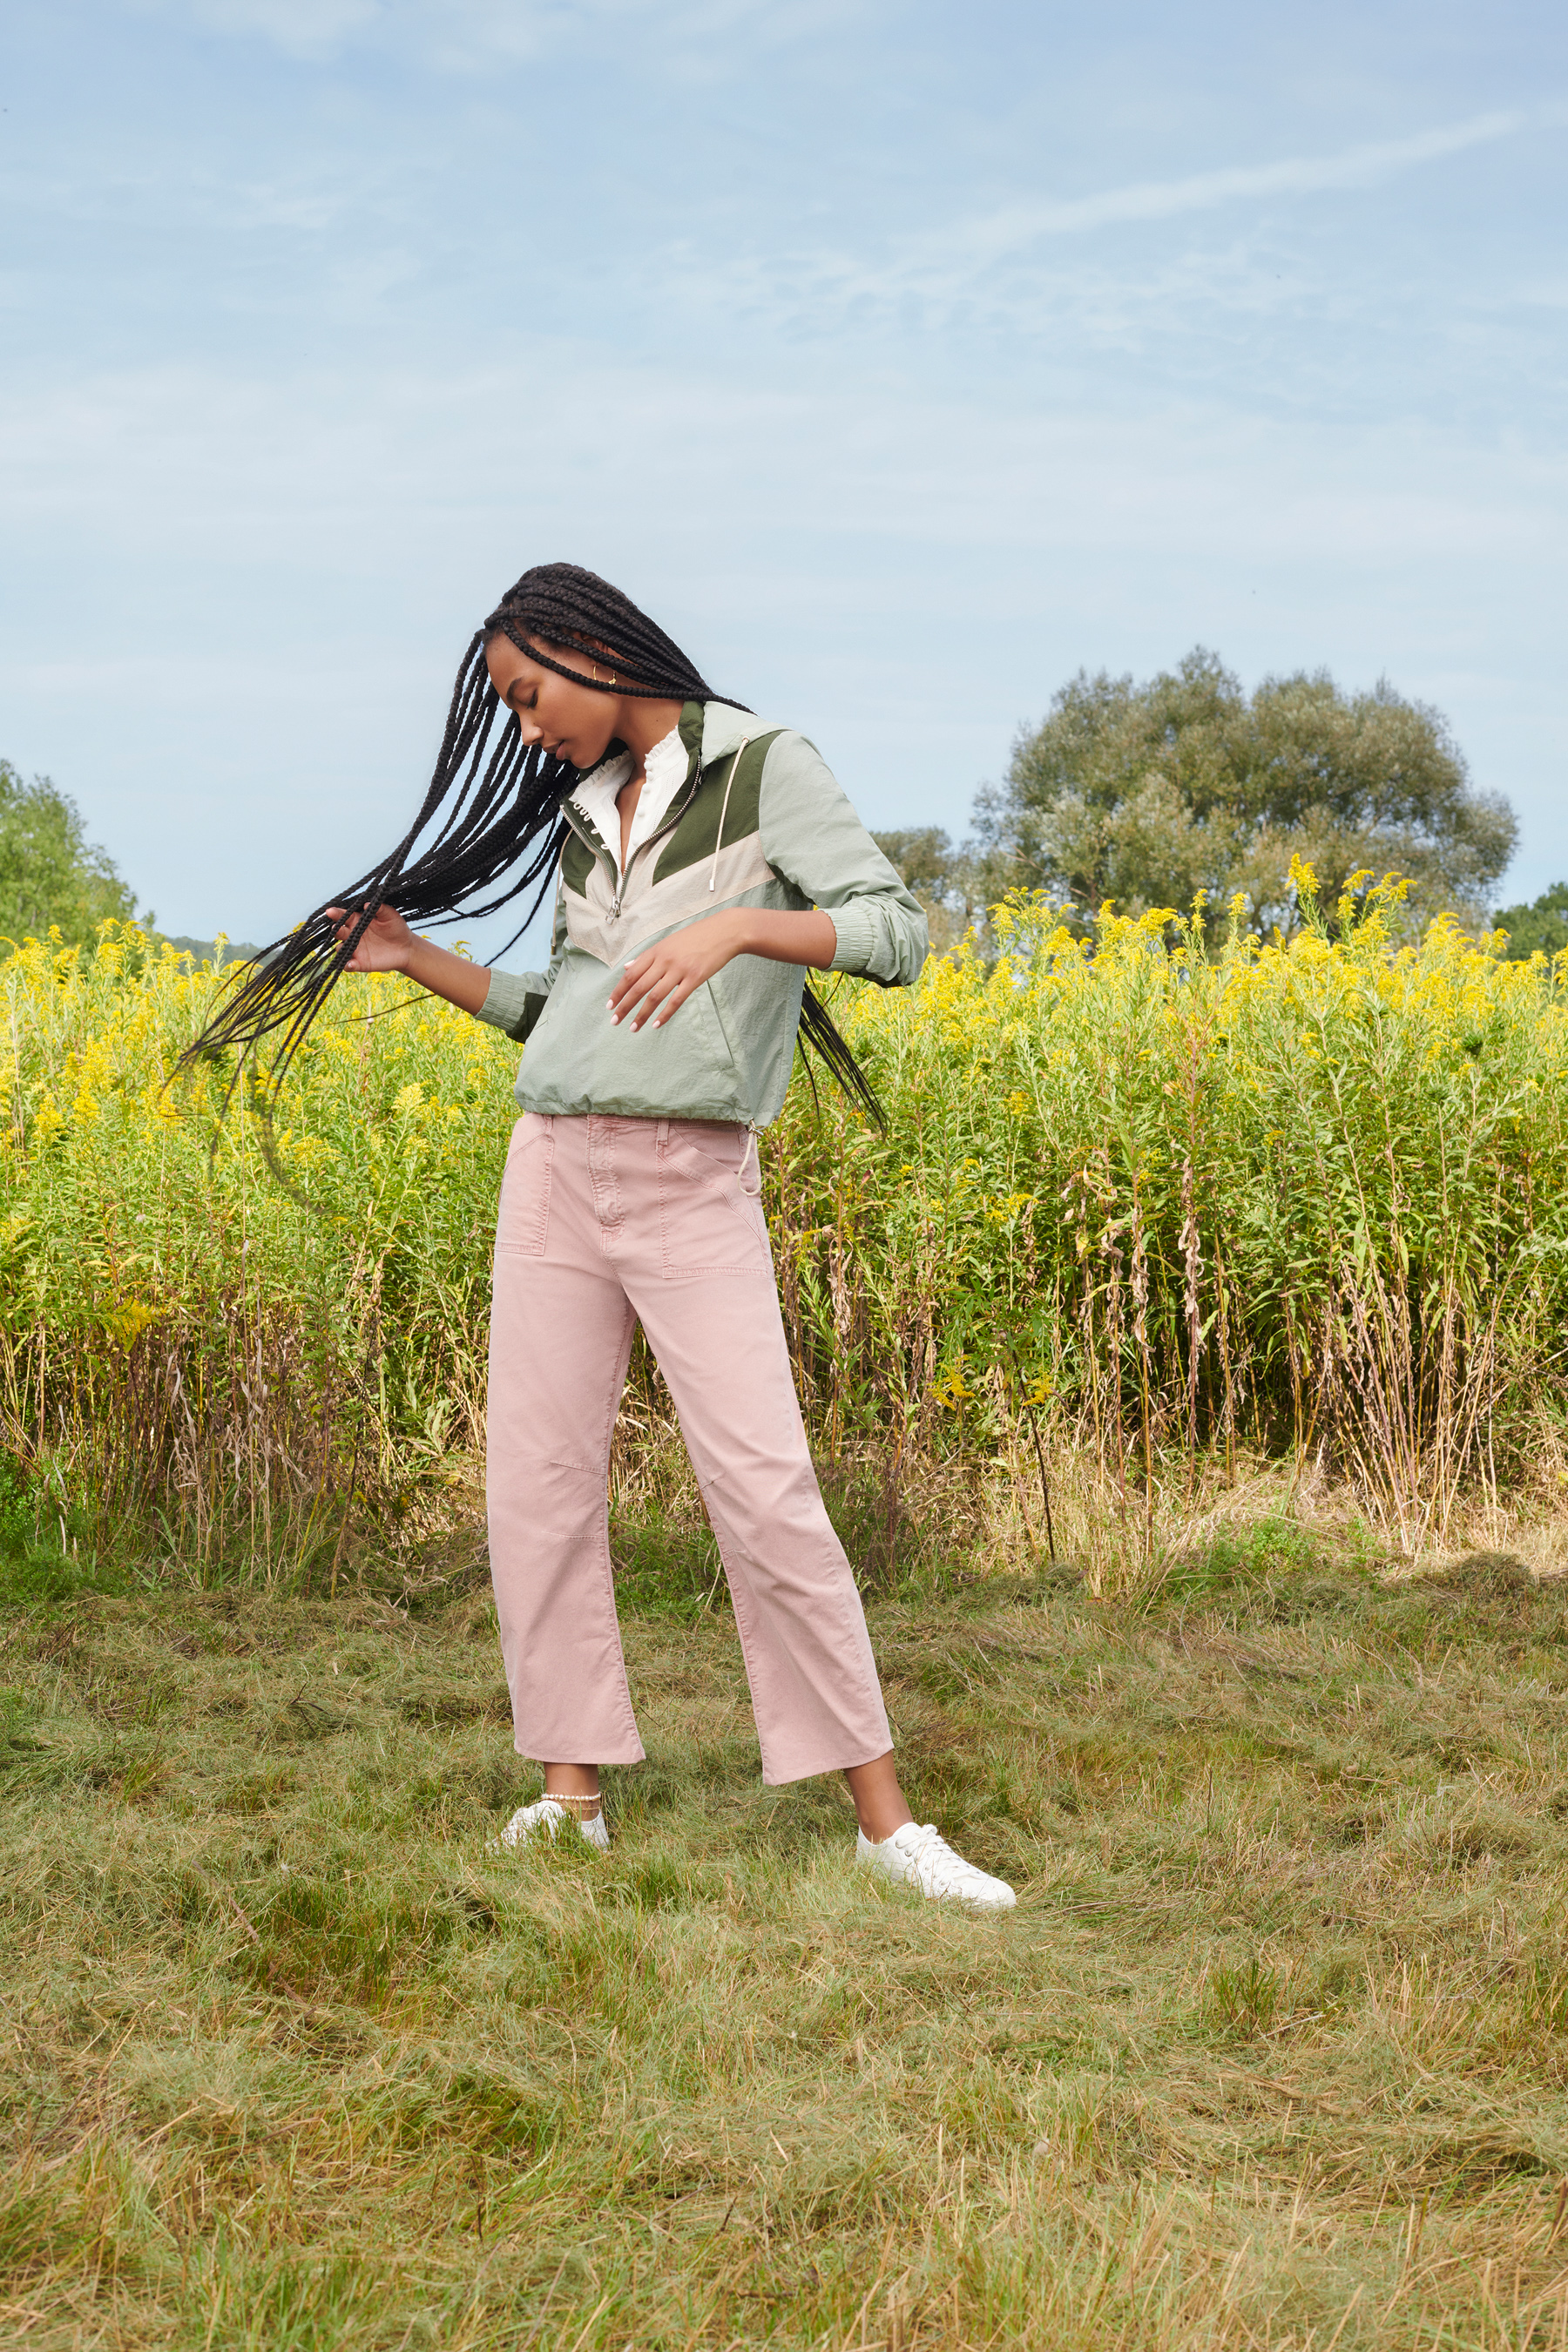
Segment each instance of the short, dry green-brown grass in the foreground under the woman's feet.
[{"label": "short, dry green-brown grass in the foreground under the woman's feet", "polygon": [[759,1785],[670,1545],[609,1856],[487,1851],[473,1571],[5,1611],[7,2343],[1563,2343],[1568,1585],[1284,1517],[1126,1602],[905,1581],[971,1919]]}]

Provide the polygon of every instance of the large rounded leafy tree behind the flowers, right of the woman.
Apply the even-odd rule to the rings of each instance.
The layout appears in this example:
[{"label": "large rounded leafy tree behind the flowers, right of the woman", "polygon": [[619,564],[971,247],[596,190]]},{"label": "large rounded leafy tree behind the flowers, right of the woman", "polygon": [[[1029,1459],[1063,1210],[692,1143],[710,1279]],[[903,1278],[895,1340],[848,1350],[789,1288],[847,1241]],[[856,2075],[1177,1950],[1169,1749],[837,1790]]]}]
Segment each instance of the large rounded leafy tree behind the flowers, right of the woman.
[{"label": "large rounded leafy tree behind the flowers, right of the woman", "polygon": [[1138,684],[1079,670],[1013,743],[1006,783],[976,800],[990,901],[1025,884],[1091,910],[1244,901],[1267,934],[1298,922],[1291,858],[1333,906],[1349,875],[1410,880],[1413,913],[1483,922],[1516,821],[1476,793],[1443,717],[1387,682],[1342,694],[1326,670],[1255,694],[1197,647]]}]

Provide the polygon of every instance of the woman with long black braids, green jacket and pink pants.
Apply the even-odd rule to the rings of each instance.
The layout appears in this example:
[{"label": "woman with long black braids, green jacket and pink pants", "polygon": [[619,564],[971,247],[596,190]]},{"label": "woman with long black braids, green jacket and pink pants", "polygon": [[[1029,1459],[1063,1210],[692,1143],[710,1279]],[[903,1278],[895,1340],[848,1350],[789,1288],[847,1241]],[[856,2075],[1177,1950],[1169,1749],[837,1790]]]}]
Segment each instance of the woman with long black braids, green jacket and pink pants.
[{"label": "woman with long black braids, green jacket and pink pants", "polygon": [[[489,971],[414,931],[494,913],[550,873],[543,974]],[[538,564],[470,642],[414,830],[254,967],[202,1040],[282,1030],[287,1065],[341,971],[400,971],[527,1042],[496,1230],[487,1484],[515,1743],[545,1783],[501,1832],[508,1846],[564,1820],[609,1846],[599,1766],[642,1762],[607,1519],[642,1322],[719,1541],[764,1780],[844,1771],[863,1863],[926,1896],[1013,1903],[917,1825],[898,1788],[759,1202],[757,1129],[783,1103],[802,995],[806,1033],[870,1101],[804,971],[896,988],[924,955],[917,901],[811,743],[715,696],[592,572]]]}]

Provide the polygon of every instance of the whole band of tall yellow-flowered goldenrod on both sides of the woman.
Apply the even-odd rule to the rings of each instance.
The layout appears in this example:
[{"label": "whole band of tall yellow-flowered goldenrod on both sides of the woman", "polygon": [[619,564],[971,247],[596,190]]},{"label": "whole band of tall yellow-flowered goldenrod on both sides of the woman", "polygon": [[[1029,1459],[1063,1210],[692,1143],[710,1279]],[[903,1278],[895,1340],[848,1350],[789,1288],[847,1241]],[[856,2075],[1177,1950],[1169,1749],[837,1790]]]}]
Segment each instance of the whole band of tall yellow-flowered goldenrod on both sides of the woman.
[{"label": "whole band of tall yellow-flowered goldenrod on both sides of the woman", "polygon": [[[1568,1423],[1556,967],[1295,884],[1288,946],[1201,908],[1086,943],[1025,894],[994,964],[842,988],[889,1131],[797,1087],[764,1143],[820,1451],[891,1498],[1088,1449],[1128,1529],[1171,1465],[1312,1456],[1410,1548],[1530,1472]],[[209,1552],[421,1524],[482,1442],[515,1047],[348,981],[266,1122],[244,1070],[174,1082],[216,985],[113,924],[0,969],[5,1439]]]}]

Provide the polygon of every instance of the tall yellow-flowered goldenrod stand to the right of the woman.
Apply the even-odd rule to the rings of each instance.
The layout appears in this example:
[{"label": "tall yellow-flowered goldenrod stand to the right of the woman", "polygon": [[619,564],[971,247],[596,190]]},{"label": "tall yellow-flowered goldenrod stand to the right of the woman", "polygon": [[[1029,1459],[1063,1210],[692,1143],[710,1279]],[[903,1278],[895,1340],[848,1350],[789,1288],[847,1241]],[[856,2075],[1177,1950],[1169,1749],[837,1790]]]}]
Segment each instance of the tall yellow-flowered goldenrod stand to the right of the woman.
[{"label": "tall yellow-flowered goldenrod stand to the right of the woman", "polygon": [[[983,1449],[1025,1399],[1124,1484],[1324,1449],[1415,1543],[1563,1395],[1568,1025],[1554,969],[1389,938],[1352,875],[1265,946],[1041,898],[851,1021],[891,1134],[790,1103],[785,1298],[818,1414]],[[1335,936],[1331,936],[1331,931]],[[1009,1404],[1011,1399],[1011,1404]]]}]

